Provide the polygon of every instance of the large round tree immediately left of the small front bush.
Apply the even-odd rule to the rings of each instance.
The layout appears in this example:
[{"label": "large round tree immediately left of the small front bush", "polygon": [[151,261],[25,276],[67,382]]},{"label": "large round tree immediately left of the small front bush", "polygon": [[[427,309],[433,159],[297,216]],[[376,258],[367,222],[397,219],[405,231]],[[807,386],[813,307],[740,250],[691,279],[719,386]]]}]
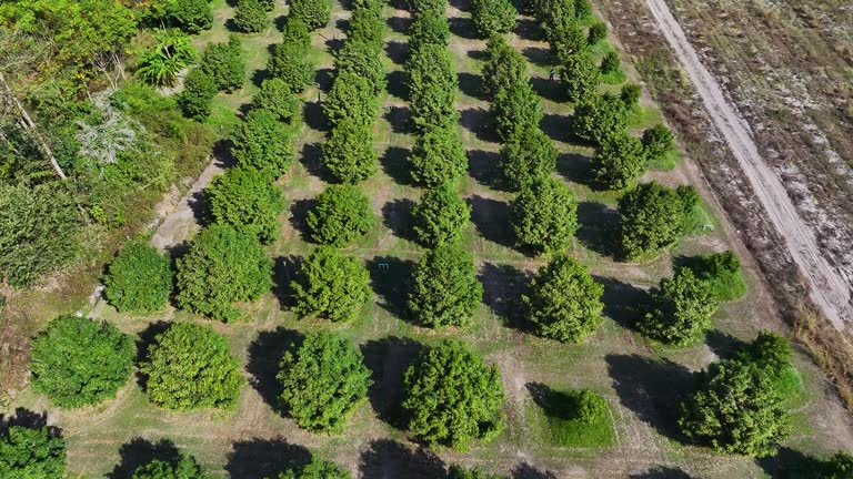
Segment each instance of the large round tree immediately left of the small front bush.
[{"label": "large round tree immediately left of the small front bush", "polygon": [[421,355],[403,379],[409,430],[430,445],[464,449],[494,439],[504,426],[501,374],[458,340]]}]

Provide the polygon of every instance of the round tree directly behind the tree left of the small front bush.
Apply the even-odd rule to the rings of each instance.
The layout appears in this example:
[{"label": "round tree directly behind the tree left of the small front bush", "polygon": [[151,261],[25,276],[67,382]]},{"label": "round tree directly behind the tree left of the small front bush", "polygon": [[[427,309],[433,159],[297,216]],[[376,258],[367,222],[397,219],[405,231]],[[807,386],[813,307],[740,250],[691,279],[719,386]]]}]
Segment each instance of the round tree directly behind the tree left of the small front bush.
[{"label": "round tree directly behind the tree left of the small front bush", "polygon": [[415,267],[409,310],[424,326],[464,326],[482,298],[473,257],[458,244],[445,243],[428,251]]}]

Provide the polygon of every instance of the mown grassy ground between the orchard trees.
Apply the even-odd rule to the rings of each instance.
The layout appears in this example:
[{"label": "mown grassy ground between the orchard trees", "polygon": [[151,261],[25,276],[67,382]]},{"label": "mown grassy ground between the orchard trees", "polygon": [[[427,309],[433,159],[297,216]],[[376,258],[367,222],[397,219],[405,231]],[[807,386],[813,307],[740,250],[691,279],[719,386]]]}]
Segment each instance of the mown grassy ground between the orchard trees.
[{"label": "mown grassy ground between the orchard trees", "polygon": [[[214,4],[217,26],[197,39],[199,47],[227,39],[225,26],[232,9],[224,0],[215,0]],[[752,287],[744,299],[724,305],[715,317],[716,330],[709,335],[706,343],[695,347],[662,348],[646,343],[632,330],[645,291],[671,274],[674,258],[730,247],[726,228],[722,227],[725,222],[712,218],[717,207],[708,200],[702,222],[715,225],[714,230],[690,236],[671,253],[645,263],[613,261],[608,245],[618,220],[614,210],[618,194],[593,191],[585,184],[592,151],[571,143],[572,106],[565,102],[558,84],[548,80],[554,60],[530,18],[520,18],[518,33],[510,35],[510,42],[530,61],[533,84],[546,112],[542,128],[561,152],[555,175],[568,182],[580,201],[581,227],[571,254],[604,284],[606,319],[599,333],[582,345],[563,345],[526,332],[518,299],[528,277],[543,259],[528,257],[512,247],[508,227],[512,194],[494,187],[499,144],[489,123],[489,104],[479,90],[485,42],[472,38],[468,6],[458,2],[451,3],[448,13],[453,32],[450,48],[460,77],[456,102],[462,118],[460,131],[470,161],[469,176],[460,183],[473,208],[464,241],[476,258],[485,294],[474,319],[463,328],[435,332],[420,328],[405,317],[403,285],[422,254],[410,233],[411,207],[421,192],[409,181],[405,160],[413,143],[407,124],[409,110],[402,71],[409,13],[395,7],[389,7],[387,13],[389,30],[383,62],[389,86],[382,116],[373,129],[381,167],[362,183],[381,220],[372,233],[345,249],[347,254],[367,263],[375,292],[374,300],[360,317],[351,324],[332,325],[325,320],[300,320],[287,310],[283,293],[289,277],[299,258],[312,247],[304,238],[304,215],[329,177],[320,157],[324,125],[318,98],[324,93],[310,89],[303,95],[304,121],[298,134],[300,161],[279,181],[290,208],[281,218],[282,240],[269,248],[277,261],[277,286],[259,302],[242,305],[243,322],[213,324],[231,339],[233,354],[241,359],[251,383],[237,410],[163,411],[147,400],[136,383],[124,387],[116,400],[96,408],[54,410],[30,391],[22,394],[16,405],[50,410],[51,421],[62,427],[68,438],[70,470],[80,477],[126,477],[133,463],[153,453],[165,453],[174,446],[195,456],[214,476],[233,478],[272,476],[289,461],[304,458],[309,450],[364,478],[434,478],[450,463],[511,471],[513,478],[669,477],[654,476],[661,470],[673,473],[681,470],[708,478],[763,477],[764,463],[681,445],[674,431],[673,414],[678,396],[691,386],[691,371],[731,354],[741,340],[751,339],[759,329],[776,327],[767,319],[772,314],[766,309],[766,293],[761,287]],[[279,8],[272,17],[282,14],[284,10]],[[335,6],[335,19],[348,14],[343,7]],[[340,35],[341,30],[332,28],[313,34],[320,65],[317,83],[321,90],[329,88],[331,49]],[[217,113],[211,121],[222,125],[233,123],[257,89],[258,79],[263,78],[268,45],[278,41],[279,32],[270,28],[241,38],[248,54],[247,85],[237,94],[217,99]],[[626,74],[634,74],[629,64],[625,69]],[[619,86],[603,88],[616,91]],[[662,120],[650,99],[644,96],[642,104],[643,111],[635,115],[632,124],[636,132]],[[669,185],[698,182],[689,160],[679,162],[670,171],[652,171],[648,177]],[[388,267],[380,268],[380,264]],[[750,283],[759,285],[754,272],[747,273]],[[130,317],[117,314],[103,303],[99,303],[91,315],[110,319],[142,338],[150,338],[162,328],[159,322],[204,322],[172,310],[162,317]],[[274,375],[284,345],[290,338],[314,329],[333,329],[357,343],[374,375],[369,402],[354,412],[349,428],[340,436],[307,432],[277,412]],[[502,435],[492,444],[474,444],[464,453],[420,449],[408,440],[395,420],[394,405],[405,365],[424,345],[445,337],[463,339],[489,363],[498,365],[509,398],[504,407],[508,427]],[[796,428],[789,446],[807,452],[841,447],[850,439],[834,434],[833,421],[840,410],[837,400],[825,394],[825,384],[813,366],[805,361],[799,361],[799,366],[810,395],[795,400]],[[533,385],[556,391],[583,388],[596,391],[609,402],[612,430],[598,428],[596,440],[568,437],[555,441],[552,432],[562,426],[536,404],[531,395]],[[160,444],[161,439],[173,441],[173,446]]]}]

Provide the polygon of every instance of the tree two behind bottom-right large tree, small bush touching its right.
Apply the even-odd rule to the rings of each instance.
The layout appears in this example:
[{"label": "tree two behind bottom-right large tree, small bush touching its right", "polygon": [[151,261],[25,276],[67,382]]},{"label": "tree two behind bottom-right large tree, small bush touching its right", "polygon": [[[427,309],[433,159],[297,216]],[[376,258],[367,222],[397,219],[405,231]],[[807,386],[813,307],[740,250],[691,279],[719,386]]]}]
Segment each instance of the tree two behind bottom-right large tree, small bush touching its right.
[{"label": "tree two behind bottom-right large tree, small bush touching its right", "polygon": [[693,186],[668,188],[655,182],[643,183],[619,200],[622,254],[634,259],[658,253],[681,240],[691,212],[699,203]]}]

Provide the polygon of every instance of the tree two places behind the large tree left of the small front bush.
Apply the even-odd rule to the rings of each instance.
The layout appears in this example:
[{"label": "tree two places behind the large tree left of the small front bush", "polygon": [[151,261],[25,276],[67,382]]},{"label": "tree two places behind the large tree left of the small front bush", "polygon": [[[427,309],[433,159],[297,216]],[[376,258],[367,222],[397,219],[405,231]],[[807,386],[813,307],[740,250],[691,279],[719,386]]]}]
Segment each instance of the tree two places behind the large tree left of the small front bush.
[{"label": "tree two places behind the large tree left of the small front bush", "polygon": [[428,190],[421,203],[412,210],[414,234],[421,244],[435,247],[454,243],[471,218],[471,207],[450,183]]}]

